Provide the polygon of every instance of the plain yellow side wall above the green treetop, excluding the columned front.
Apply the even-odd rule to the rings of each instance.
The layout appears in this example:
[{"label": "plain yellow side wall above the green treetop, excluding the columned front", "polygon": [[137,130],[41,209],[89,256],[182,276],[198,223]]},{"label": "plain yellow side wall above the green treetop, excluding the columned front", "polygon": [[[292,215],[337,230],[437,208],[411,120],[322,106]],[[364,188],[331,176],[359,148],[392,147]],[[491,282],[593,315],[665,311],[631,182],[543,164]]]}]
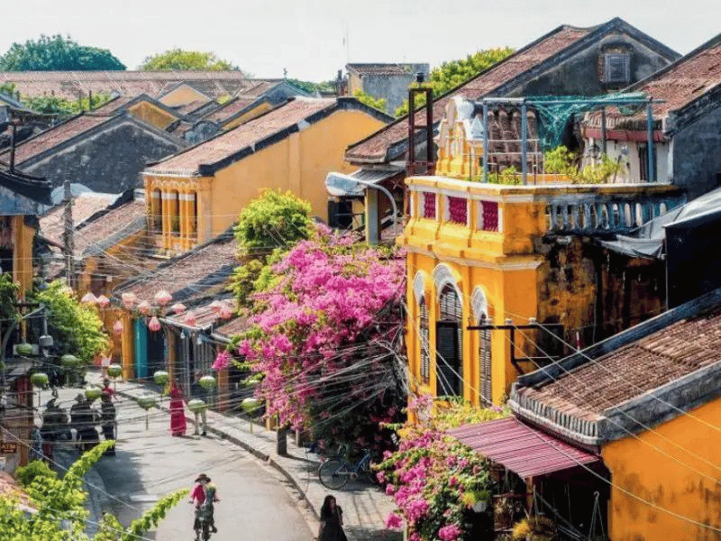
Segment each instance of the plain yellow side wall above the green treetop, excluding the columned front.
[{"label": "plain yellow side wall above the green treetop, excluding the columned front", "polygon": [[243,206],[264,188],[290,190],[311,204],[313,215],[327,220],[325,176],[331,171],[351,172],[343,160],[345,148],[383,125],[359,111],[336,111],[217,171],[211,181],[212,234],[233,224]]}]

